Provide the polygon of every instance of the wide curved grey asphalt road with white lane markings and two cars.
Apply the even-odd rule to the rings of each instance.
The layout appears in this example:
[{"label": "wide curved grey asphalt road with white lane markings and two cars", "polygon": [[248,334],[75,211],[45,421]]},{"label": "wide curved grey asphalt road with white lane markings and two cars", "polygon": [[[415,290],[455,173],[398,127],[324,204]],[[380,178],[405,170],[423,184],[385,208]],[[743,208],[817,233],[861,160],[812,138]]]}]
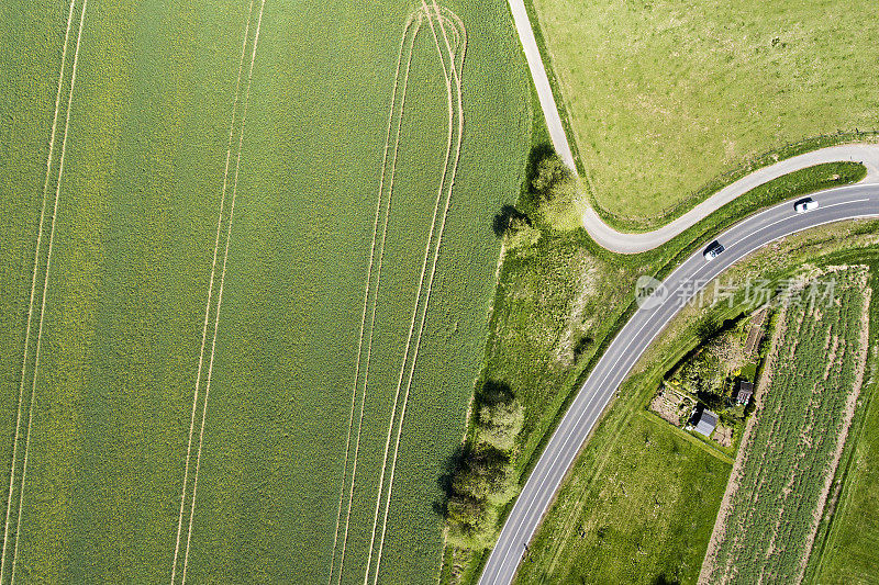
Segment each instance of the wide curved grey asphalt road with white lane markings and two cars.
[{"label": "wide curved grey asphalt road with white lane markings and two cars", "polygon": [[821,204],[812,212],[799,215],[793,211],[793,203],[786,202],[722,233],[717,240],[726,248],[723,254],[709,262],[702,258],[701,250],[693,254],[665,280],[664,301],[654,308],[639,310],[625,324],[596,364],[537,461],[491,551],[479,581],[481,585],[512,582],[525,545],[596,420],[642,353],[678,313],[681,296],[692,297],[701,285],[734,262],[783,236],[843,220],[879,216],[879,184],[839,187],[812,198]]}]

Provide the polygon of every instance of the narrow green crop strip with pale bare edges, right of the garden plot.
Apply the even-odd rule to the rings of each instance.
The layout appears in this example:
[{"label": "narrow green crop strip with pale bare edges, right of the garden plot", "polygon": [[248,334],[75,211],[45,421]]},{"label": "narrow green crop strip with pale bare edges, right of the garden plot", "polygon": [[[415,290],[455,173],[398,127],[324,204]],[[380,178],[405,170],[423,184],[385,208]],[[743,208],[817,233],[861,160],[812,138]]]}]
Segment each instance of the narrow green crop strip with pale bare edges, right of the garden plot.
[{"label": "narrow green crop strip with pale bare edges, right of the garden plot", "polygon": [[830,269],[804,285],[832,294],[778,317],[700,583],[802,580],[864,381],[868,277]]}]

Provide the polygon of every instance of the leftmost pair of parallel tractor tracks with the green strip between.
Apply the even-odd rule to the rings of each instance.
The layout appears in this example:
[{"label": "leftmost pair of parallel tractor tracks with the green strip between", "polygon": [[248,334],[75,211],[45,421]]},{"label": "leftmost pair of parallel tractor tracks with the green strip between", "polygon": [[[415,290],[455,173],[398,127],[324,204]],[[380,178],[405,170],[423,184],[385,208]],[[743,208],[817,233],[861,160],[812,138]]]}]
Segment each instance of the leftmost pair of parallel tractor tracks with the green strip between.
[{"label": "leftmost pair of parallel tractor tracks with the green strip between", "polygon": [[[66,100],[66,112],[65,112],[65,123],[64,123],[64,131],[62,135],[62,145],[60,145],[60,154],[58,157],[57,162],[57,177],[53,176],[53,167],[54,167],[54,155],[55,155],[55,143],[57,138],[57,127],[58,127],[58,117],[62,111],[62,92],[63,88],[68,83],[67,81],[67,53],[69,48],[70,42],[70,32],[74,22],[74,14],[76,13],[76,4],[77,0],[70,0],[68,12],[67,12],[67,24],[64,35],[64,45],[62,48],[62,61],[60,61],[60,71],[58,74],[58,89],[55,97],[55,111],[53,114],[52,120],[52,131],[49,134],[48,140],[48,155],[46,158],[46,178],[43,184],[43,203],[40,212],[40,222],[37,227],[37,235],[36,235],[36,245],[34,250],[34,269],[31,279],[31,292],[30,292],[30,302],[27,307],[27,319],[26,319],[26,330],[24,336],[24,351],[22,358],[22,370],[21,370],[21,380],[19,383],[19,397],[18,397],[18,409],[15,415],[15,431],[13,438],[13,446],[12,446],[12,459],[10,463],[10,472],[9,472],[9,493],[7,497],[7,510],[5,510],[5,520],[3,526],[3,545],[2,552],[0,553],[0,584],[5,583],[7,574],[9,574],[9,583],[13,583],[15,580],[15,566],[18,563],[18,555],[19,555],[19,537],[21,533],[21,526],[22,526],[22,510],[24,508],[24,487],[25,487],[25,480],[27,476],[27,458],[30,453],[30,446],[31,446],[31,430],[33,429],[33,404],[36,397],[36,381],[37,381],[37,373],[40,368],[40,350],[43,340],[43,323],[44,316],[46,311],[46,293],[48,291],[48,274],[49,268],[52,265],[52,248],[55,241],[55,224],[56,218],[58,215],[58,202],[60,200],[60,190],[62,190],[62,177],[64,175],[64,160],[65,154],[67,150],[67,136],[68,131],[70,127],[70,110],[73,105],[74,99],[74,89],[76,86],[76,70],[77,65],[79,61],[79,47],[82,40],[82,26],[86,20],[86,8],[87,8],[88,0],[82,0],[81,9],[79,10],[79,23],[78,23],[78,31],[76,35],[76,47],[74,49],[74,57],[73,64],[70,66],[70,76],[69,76],[69,90]],[[53,203],[53,211],[52,211],[52,218],[49,221],[49,233],[48,233],[48,245],[46,246],[45,250],[45,260],[43,259],[43,235],[45,232],[45,220],[46,220],[46,206],[48,203],[48,193],[49,193],[49,183],[53,181],[55,182],[55,196]],[[36,289],[37,289],[37,280],[38,274],[41,274],[42,269],[42,280],[43,280],[43,288],[41,293],[40,300],[40,315],[37,319],[34,322],[33,313],[34,306],[36,301]],[[29,372],[29,358],[31,353],[31,333],[32,329],[36,327],[36,341],[33,344],[33,358],[30,360],[32,365]],[[25,406],[25,380],[31,378],[31,391],[29,400],[26,401]],[[15,499],[14,492],[16,487],[15,483],[15,474],[19,468],[19,440],[21,437],[21,423],[22,423],[22,412],[26,409],[27,412],[27,426],[24,434],[24,452],[22,455],[21,461],[21,476],[18,482],[18,510],[14,513],[14,527],[12,526],[12,517],[13,517],[13,502]],[[14,536],[13,536],[14,535]],[[14,544],[10,550],[10,538],[14,540]],[[9,564],[11,567],[8,569],[8,558],[12,554],[12,559]]]}]

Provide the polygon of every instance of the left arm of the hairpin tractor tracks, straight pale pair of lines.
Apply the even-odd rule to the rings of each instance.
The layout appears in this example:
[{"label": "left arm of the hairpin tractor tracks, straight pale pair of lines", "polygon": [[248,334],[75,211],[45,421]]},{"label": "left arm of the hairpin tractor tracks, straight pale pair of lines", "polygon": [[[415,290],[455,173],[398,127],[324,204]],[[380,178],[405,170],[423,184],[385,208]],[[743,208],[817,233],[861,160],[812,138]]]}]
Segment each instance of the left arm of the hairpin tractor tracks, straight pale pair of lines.
[{"label": "left arm of the hairpin tractor tracks, straight pale pair of lines", "polygon": [[[418,16],[418,22],[415,22],[416,16]],[[410,29],[411,29],[413,23],[415,24],[415,30],[412,32],[411,42],[409,44],[409,50],[407,52],[407,55],[408,55],[407,56],[407,66],[405,66],[405,72],[403,75],[403,80],[402,80],[402,92],[401,92],[399,116],[398,116],[398,122],[397,122],[397,133],[396,133],[396,136],[394,136],[393,156],[392,156],[392,162],[391,162],[391,167],[390,167],[390,177],[389,177],[389,182],[388,182],[388,199],[387,199],[387,205],[386,205],[386,209],[385,209],[385,222],[383,222],[382,232],[381,232],[381,244],[379,246],[379,252],[378,252],[379,260],[378,260],[378,268],[377,268],[377,272],[376,272],[376,292],[375,292],[375,295],[372,295],[372,311],[371,311],[371,317],[370,317],[370,324],[369,324],[369,337],[368,337],[368,342],[367,342],[367,357],[366,357],[366,360],[365,360],[365,368],[364,368],[364,391],[363,391],[361,401],[360,401],[359,420],[358,420],[358,424],[357,424],[357,440],[356,440],[355,449],[354,449],[354,463],[353,463],[353,466],[352,466],[352,480],[351,480],[351,488],[349,488],[349,493],[348,493],[348,505],[347,505],[347,510],[346,510],[346,514],[345,514],[345,531],[344,531],[343,541],[342,541],[342,551],[341,551],[341,554],[340,554],[340,567],[338,567],[338,582],[340,582],[340,584],[342,582],[342,567],[344,566],[344,563],[345,563],[345,548],[346,548],[347,539],[348,539],[351,510],[352,510],[352,505],[353,505],[353,499],[354,499],[354,483],[355,483],[355,477],[357,476],[357,461],[358,461],[358,453],[359,453],[359,448],[360,448],[360,434],[361,434],[361,429],[363,429],[364,409],[365,409],[365,406],[366,406],[366,393],[367,393],[367,389],[368,389],[368,385],[367,385],[368,380],[367,379],[368,379],[368,375],[369,375],[369,363],[370,363],[371,353],[372,353],[372,351],[371,351],[372,350],[372,333],[375,330],[375,322],[376,322],[376,305],[378,303],[378,291],[379,291],[379,285],[380,285],[380,282],[381,282],[381,267],[382,267],[383,258],[385,258],[385,243],[386,243],[386,238],[387,238],[387,235],[388,235],[388,220],[389,220],[389,216],[390,216],[390,202],[391,202],[391,194],[392,194],[392,190],[393,190],[393,179],[394,179],[396,169],[397,169],[397,155],[399,154],[399,150],[400,150],[400,128],[401,128],[401,125],[402,125],[403,111],[404,111],[404,108],[405,108],[405,92],[407,92],[407,87],[409,85],[409,71],[410,71],[410,67],[412,65],[412,50],[413,50],[413,46],[414,46],[414,43],[415,43],[415,37],[418,36],[418,33],[419,33],[419,31],[421,29],[421,14],[418,13],[418,12],[413,12],[412,14],[410,14],[409,19],[407,20],[405,24],[403,25],[403,34],[402,34],[402,37],[400,38],[400,48],[399,48],[398,57],[397,57],[397,71],[396,71],[394,80],[393,80],[393,91],[391,93],[391,104],[390,104],[390,110],[389,110],[389,113],[388,113],[388,131],[387,131],[386,139],[385,139],[385,150],[383,150],[382,164],[381,164],[381,176],[379,178],[379,192],[378,192],[378,198],[376,200],[376,218],[375,218],[374,228],[372,228],[372,244],[371,244],[371,248],[370,248],[369,269],[368,269],[368,272],[367,272],[367,288],[366,288],[366,291],[365,291],[365,294],[364,294],[364,311],[363,311],[363,317],[361,317],[361,322],[360,322],[360,337],[359,337],[358,346],[357,346],[357,369],[356,369],[356,374],[355,374],[355,384],[354,384],[354,389],[352,391],[352,412],[351,412],[351,420],[349,420],[349,424],[348,424],[349,425],[349,427],[348,427],[348,442],[347,442],[346,449],[345,449],[345,471],[344,471],[343,482],[342,482],[342,494],[340,495],[338,516],[337,516],[337,519],[336,519],[336,538],[333,540],[333,556],[332,556],[332,561],[331,561],[331,565],[330,565],[330,581],[329,581],[330,583],[332,583],[332,581],[333,581],[333,569],[334,569],[334,562],[335,562],[335,552],[336,552],[336,545],[337,545],[338,528],[341,526],[342,505],[343,505],[343,502],[344,502],[345,481],[346,481],[346,477],[347,477],[348,450],[349,450],[349,446],[351,446],[351,432],[352,432],[353,425],[354,425],[354,412],[355,412],[355,400],[356,400],[357,386],[359,385],[358,381],[359,381],[359,369],[360,369],[360,356],[361,356],[361,346],[363,346],[365,324],[366,324],[366,313],[367,313],[367,306],[369,304],[369,296],[370,296],[370,290],[371,290],[371,272],[372,272],[372,263],[374,263],[374,257],[375,257],[375,245],[376,245],[376,238],[377,238],[377,234],[378,234],[378,222],[379,222],[379,217],[380,217],[380,213],[381,213],[380,212],[381,202],[385,199],[385,177],[388,175],[387,161],[388,161],[388,150],[390,149],[390,132],[391,132],[391,127],[393,126],[394,111],[397,110],[397,93],[398,93],[398,88],[399,88],[399,85],[400,85],[400,79],[399,79],[400,78],[400,66],[402,64],[403,49],[405,47],[405,42],[407,42],[407,38],[409,37],[409,32],[410,32]]]}]

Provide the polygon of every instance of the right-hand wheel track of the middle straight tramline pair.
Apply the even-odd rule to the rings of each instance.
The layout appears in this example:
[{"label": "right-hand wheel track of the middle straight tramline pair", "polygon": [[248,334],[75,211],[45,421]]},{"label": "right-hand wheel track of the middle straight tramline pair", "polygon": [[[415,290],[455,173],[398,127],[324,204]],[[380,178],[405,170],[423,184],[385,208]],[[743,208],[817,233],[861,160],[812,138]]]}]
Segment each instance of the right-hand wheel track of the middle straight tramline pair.
[{"label": "right-hand wheel track of the middle straight tramline pair", "polygon": [[[253,0],[252,0],[252,3],[253,3]],[[211,359],[210,359],[210,361],[208,363],[208,379],[207,379],[207,383],[204,385],[204,403],[203,403],[203,407],[202,407],[202,412],[201,412],[201,430],[199,432],[198,454],[196,455],[196,473],[194,473],[194,479],[193,479],[193,482],[192,482],[192,502],[191,502],[190,510],[189,510],[189,530],[188,530],[187,537],[186,537],[186,552],[183,553],[183,572],[182,572],[182,575],[180,577],[181,585],[186,583],[186,573],[187,573],[187,569],[189,567],[189,544],[190,544],[190,540],[192,538],[192,520],[193,520],[193,518],[196,516],[196,492],[198,490],[198,484],[199,484],[199,470],[201,468],[201,448],[202,448],[202,445],[203,445],[203,441],[204,441],[204,423],[205,423],[207,417],[208,417],[208,397],[209,397],[209,395],[211,393],[211,379],[213,376],[213,360],[214,360],[214,353],[215,353],[215,350],[216,350],[216,336],[219,334],[219,328],[220,328],[220,306],[223,303],[223,289],[224,289],[224,284],[225,284],[225,278],[226,278],[226,262],[229,260],[229,244],[230,244],[230,241],[232,239],[232,220],[233,220],[234,214],[235,214],[235,198],[236,198],[237,192],[238,192],[238,171],[241,170],[241,151],[242,151],[242,146],[244,144],[244,128],[245,128],[246,120],[247,120],[247,106],[248,106],[249,99],[251,99],[251,86],[252,86],[253,76],[254,76],[254,64],[256,63],[256,47],[259,44],[259,31],[260,31],[260,29],[263,26],[263,12],[264,12],[265,8],[266,8],[266,0],[262,0],[262,2],[259,4],[259,15],[257,16],[257,20],[256,20],[256,33],[254,34],[253,49],[251,52],[251,69],[248,71],[248,74],[247,74],[247,88],[245,89],[245,92],[244,92],[244,104],[242,106],[241,131],[240,131],[240,134],[238,134],[238,153],[237,153],[237,157],[236,157],[236,161],[235,161],[235,175],[234,175],[234,179],[233,179],[233,183],[232,183],[232,204],[231,204],[230,211],[229,211],[229,223],[227,223],[227,227],[226,227],[226,244],[225,244],[225,250],[224,250],[224,254],[223,254],[223,269],[220,272],[220,291],[219,291],[218,296],[216,296],[216,312],[215,312],[215,316],[214,316],[214,319],[215,319],[214,320],[214,331],[213,331],[213,339],[211,340]]]}]

